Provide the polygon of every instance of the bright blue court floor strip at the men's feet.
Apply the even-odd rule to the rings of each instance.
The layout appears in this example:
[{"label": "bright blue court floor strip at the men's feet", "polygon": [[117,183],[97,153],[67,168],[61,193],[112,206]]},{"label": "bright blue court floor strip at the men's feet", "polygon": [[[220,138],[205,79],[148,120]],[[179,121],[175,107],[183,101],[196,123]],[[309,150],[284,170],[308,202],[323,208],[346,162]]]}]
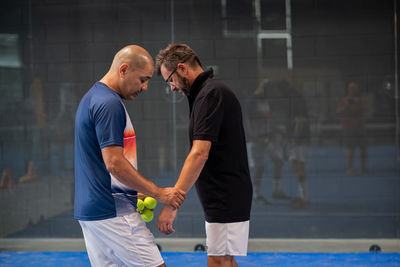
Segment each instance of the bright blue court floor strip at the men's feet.
[{"label": "bright blue court floor strip at the men's feet", "polygon": [[[163,252],[169,267],[204,267],[204,252]],[[400,253],[249,253],[236,257],[240,267],[260,266],[400,266]],[[90,266],[86,252],[0,252],[0,266]]]}]

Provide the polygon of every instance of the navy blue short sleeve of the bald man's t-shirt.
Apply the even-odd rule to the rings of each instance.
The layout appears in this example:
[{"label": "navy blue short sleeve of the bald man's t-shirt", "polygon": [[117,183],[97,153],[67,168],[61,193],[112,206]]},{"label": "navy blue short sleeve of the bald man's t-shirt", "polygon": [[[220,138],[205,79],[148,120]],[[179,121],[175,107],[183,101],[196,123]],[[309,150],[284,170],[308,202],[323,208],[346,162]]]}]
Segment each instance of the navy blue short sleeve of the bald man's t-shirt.
[{"label": "navy blue short sleeve of the bald man's t-shirt", "polygon": [[124,145],[126,114],[118,99],[109,98],[93,106],[93,120],[100,148],[111,145]]}]

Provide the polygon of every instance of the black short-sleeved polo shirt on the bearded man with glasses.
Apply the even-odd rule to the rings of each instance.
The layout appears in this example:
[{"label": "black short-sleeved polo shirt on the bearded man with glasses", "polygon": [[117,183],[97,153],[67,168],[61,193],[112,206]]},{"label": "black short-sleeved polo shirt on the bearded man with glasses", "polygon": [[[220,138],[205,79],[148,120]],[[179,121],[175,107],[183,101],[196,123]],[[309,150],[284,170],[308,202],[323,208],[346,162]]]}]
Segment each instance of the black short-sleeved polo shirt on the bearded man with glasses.
[{"label": "black short-sleeved polo shirt on the bearded man with glasses", "polygon": [[208,160],[196,182],[206,221],[249,220],[253,188],[238,99],[208,69],[192,84],[188,100],[190,145],[193,140],[212,142]]}]

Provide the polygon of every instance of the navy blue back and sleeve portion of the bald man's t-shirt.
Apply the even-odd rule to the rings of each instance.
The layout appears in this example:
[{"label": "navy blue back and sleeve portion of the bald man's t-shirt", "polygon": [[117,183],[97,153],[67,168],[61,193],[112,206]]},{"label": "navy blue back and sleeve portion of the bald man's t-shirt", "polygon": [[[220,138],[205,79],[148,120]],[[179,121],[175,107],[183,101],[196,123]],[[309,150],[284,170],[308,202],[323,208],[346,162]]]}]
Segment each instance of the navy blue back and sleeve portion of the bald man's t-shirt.
[{"label": "navy blue back and sleeve portion of the bald man's t-shirt", "polygon": [[[104,164],[101,147],[110,143],[123,146],[125,114],[120,101],[117,93],[102,83],[96,83],[82,98],[76,112],[76,219],[98,220],[116,215],[110,174]],[[109,113],[113,111],[121,118],[112,119]],[[115,129],[109,131],[108,125],[114,125]]]}]

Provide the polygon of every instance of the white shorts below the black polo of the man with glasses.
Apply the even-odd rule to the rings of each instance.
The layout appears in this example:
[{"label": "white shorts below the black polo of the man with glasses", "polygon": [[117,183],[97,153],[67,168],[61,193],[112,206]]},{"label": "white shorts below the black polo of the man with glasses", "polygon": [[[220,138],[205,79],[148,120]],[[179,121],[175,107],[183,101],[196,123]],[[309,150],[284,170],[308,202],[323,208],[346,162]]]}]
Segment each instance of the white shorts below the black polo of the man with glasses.
[{"label": "white shorts below the black polo of the man with glasses", "polygon": [[236,223],[206,222],[208,256],[246,256],[249,221]]}]

